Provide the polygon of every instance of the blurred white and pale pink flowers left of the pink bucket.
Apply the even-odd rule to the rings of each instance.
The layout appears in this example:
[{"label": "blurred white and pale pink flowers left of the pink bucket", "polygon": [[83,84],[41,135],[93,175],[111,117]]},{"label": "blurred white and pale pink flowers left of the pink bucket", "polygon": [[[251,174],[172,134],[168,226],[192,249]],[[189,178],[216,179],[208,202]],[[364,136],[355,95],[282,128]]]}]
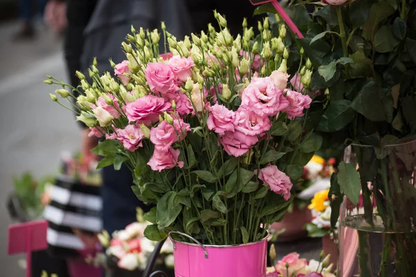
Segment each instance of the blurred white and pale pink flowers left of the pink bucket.
[{"label": "blurred white and pale pink flowers left of the pink bucket", "polygon": [[[128,271],[144,270],[157,244],[144,236],[144,230],[150,224],[144,220],[143,211],[138,208],[137,222],[129,224],[123,230],[114,232],[112,238],[107,231],[98,234],[98,240],[106,250],[105,253],[96,256],[94,263],[110,270],[113,266]],[[171,240],[164,242],[155,266],[173,269]]]}]

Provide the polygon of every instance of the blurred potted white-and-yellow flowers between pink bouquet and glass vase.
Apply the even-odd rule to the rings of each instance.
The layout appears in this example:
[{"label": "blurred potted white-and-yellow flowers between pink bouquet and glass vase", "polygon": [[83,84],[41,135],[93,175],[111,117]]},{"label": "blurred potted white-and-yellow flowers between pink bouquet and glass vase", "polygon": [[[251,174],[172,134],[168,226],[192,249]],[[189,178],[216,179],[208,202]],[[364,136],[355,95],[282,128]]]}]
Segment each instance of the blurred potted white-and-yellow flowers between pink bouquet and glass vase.
[{"label": "blurred potted white-and-yellow flowers between pink bouquet and glass vase", "polygon": [[311,161],[304,166],[302,179],[293,184],[294,200],[288,208],[288,213],[281,222],[270,226],[270,229],[276,231],[285,230],[277,237],[279,241],[287,242],[306,237],[308,233],[304,226],[312,221],[312,214],[307,206],[311,203],[316,192],[329,188],[329,177],[334,171],[333,163],[335,163],[333,158],[325,161],[322,157],[314,155]]}]

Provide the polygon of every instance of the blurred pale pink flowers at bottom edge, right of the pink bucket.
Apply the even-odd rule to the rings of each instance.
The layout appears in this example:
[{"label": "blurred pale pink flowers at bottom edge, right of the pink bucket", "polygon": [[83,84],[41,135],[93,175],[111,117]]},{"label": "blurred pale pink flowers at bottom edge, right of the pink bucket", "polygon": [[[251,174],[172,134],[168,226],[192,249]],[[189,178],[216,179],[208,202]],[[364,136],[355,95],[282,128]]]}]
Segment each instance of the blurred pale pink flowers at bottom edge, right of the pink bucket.
[{"label": "blurred pale pink flowers at bottom edge, right of the pink bucket", "polygon": [[268,267],[266,277],[335,277],[333,274],[333,264],[329,260],[331,255],[324,256],[324,252],[320,253],[320,260],[306,260],[300,258],[296,252],[278,260],[276,263],[276,251],[274,245],[270,248],[269,257],[275,264]]}]

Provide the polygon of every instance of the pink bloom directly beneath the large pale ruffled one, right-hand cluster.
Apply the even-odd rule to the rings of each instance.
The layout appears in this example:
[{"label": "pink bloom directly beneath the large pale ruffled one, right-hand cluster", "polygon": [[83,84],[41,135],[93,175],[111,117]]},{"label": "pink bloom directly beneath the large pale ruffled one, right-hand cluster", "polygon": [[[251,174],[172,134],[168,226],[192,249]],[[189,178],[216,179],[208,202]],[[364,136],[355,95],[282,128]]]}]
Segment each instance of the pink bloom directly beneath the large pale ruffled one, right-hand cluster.
[{"label": "pink bloom directly beneath the large pale ruffled one, right-hand cluster", "polygon": [[240,131],[250,136],[257,136],[268,131],[272,124],[268,116],[259,116],[254,111],[241,108],[236,111],[236,119],[234,121],[236,131]]}]

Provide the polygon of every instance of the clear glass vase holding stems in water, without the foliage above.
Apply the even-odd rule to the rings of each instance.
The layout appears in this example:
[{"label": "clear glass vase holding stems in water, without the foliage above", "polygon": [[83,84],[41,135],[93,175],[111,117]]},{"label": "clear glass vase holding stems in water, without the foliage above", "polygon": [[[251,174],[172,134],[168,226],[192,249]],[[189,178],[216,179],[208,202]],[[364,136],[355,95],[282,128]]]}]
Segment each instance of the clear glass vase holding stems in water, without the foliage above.
[{"label": "clear glass vase holding stems in water, without the foliage above", "polygon": [[344,161],[361,193],[357,205],[344,197],[340,206],[339,275],[416,276],[416,140],[350,145]]}]

